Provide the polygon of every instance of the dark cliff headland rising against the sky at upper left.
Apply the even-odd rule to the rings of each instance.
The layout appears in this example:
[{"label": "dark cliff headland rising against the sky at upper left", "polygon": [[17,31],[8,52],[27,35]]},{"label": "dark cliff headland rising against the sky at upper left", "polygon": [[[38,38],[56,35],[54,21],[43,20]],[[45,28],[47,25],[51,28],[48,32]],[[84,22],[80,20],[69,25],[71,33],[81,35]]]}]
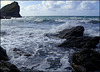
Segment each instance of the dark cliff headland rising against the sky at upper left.
[{"label": "dark cliff headland rising against the sky at upper left", "polygon": [[21,17],[20,6],[17,2],[8,4],[0,9],[0,18]]}]

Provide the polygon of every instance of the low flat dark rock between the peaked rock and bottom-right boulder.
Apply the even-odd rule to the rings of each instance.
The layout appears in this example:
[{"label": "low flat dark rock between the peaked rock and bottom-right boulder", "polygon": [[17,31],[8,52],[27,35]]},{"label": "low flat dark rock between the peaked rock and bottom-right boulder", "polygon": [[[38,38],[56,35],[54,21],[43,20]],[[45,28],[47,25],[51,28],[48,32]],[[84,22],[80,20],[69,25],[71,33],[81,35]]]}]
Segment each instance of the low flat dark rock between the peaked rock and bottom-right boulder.
[{"label": "low flat dark rock between the peaked rock and bottom-right boulder", "polygon": [[100,37],[69,37],[59,47],[96,48]]}]

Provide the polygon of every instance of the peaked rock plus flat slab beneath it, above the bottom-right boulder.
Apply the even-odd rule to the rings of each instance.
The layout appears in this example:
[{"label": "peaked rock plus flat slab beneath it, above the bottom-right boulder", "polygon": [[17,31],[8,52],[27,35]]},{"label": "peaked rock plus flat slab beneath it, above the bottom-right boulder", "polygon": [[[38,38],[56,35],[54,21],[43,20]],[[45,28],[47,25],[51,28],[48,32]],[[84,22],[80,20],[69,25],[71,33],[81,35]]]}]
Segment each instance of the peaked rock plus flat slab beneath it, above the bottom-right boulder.
[{"label": "peaked rock plus flat slab beneath it, above the bottom-right boulder", "polygon": [[59,47],[76,47],[76,48],[96,48],[99,43],[100,37],[87,37],[83,36],[84,27],[76,26],[71,29],[60,31],[57,37],[66,39]]}]

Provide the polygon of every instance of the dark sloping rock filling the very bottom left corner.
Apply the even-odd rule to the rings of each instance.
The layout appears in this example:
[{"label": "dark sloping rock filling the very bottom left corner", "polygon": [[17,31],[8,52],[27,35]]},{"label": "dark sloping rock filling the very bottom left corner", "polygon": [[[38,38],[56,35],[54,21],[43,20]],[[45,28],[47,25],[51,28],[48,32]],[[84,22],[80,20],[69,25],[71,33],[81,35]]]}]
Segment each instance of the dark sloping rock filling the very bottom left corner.
[{"label": "dark sloping rock filling the very bottom left corner", "polygon": [[9,62],[0,61],[0,72],[20,72],[17,67]]}]

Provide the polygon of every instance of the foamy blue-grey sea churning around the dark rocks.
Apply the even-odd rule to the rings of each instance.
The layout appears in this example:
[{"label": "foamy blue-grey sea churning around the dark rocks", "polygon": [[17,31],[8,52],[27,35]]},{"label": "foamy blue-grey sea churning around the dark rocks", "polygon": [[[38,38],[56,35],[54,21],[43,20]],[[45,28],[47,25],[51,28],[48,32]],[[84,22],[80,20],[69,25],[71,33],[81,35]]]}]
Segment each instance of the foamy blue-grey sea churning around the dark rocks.
[{"label": "foamy blue-grey sea churning around the dark rocks", "polygon": [[[58,47],[65,39],[52,35],[75,26],[84,26],[84,36],[99,36],[99,16],[23,16],[1,19],[1,46],[9,62],[22,72],[72,72],[73,48]],[[97,45],[100,52],[100,44]]]}]

